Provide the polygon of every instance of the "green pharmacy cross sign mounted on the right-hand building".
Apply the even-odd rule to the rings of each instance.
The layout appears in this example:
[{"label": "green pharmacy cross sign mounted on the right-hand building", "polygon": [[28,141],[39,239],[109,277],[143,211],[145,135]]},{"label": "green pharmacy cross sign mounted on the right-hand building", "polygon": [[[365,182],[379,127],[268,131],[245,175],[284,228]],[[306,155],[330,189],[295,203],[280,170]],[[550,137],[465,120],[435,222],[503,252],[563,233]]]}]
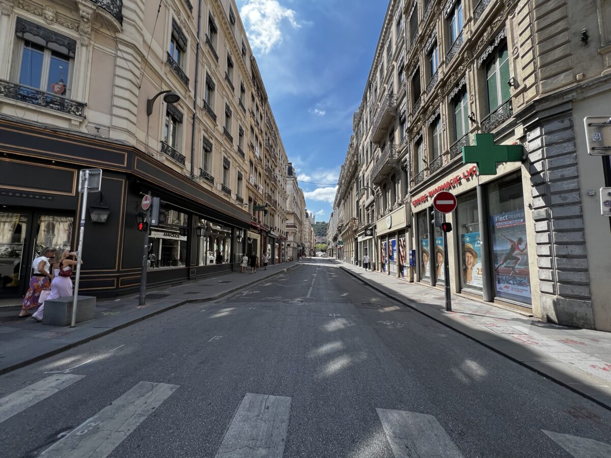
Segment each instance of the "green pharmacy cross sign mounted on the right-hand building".
[{"label": "green pharmacy cross sign mounted on the right-hand building", "polygon": [[522,145],[495,145],[493,134],[475,134],[472,147],[463,147],[463,164],[477,164],[480,175],[496,175],[498,162],[522,162]]}]

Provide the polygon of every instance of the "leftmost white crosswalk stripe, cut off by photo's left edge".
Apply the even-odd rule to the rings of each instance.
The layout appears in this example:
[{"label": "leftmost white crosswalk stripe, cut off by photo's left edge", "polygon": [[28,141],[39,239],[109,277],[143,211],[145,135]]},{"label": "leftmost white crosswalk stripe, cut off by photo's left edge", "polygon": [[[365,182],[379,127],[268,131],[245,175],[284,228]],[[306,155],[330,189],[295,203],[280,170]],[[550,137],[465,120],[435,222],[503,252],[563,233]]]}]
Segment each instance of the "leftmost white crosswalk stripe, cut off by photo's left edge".
[{"label": "leftmost white crosswalk stripe, cut off by photo's left edge", "polygon": [[48,398],[51,394],[69,387],[74,382],[78,382],[84,376],[75,374],[57,374],[46,377],[40,382],[32,383],[26,388],[15,391],[15,393],[4,396],[0,399],[0,423],[8,420],[13,415],[22,412],[37,402]]}]

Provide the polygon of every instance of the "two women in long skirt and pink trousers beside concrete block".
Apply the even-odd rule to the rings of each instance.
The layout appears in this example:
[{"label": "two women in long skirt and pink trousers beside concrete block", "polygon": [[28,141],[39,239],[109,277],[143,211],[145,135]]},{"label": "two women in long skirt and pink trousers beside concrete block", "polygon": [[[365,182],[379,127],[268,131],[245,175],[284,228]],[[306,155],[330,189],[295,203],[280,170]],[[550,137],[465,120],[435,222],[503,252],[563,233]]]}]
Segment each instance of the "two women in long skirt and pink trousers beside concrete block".
[{"label": "two women in long skirt and pink trousers beside concrete block", "polygon": [[[31,316],[42,321],[45,301],[73,294],[72,269],[76,266],[76,253],[46,247],[32,263],[30,287],[21,304],[19,318]],[[82,260],[81,260],[82,264]],[[35,313],[30,310],[38,308]]]}]

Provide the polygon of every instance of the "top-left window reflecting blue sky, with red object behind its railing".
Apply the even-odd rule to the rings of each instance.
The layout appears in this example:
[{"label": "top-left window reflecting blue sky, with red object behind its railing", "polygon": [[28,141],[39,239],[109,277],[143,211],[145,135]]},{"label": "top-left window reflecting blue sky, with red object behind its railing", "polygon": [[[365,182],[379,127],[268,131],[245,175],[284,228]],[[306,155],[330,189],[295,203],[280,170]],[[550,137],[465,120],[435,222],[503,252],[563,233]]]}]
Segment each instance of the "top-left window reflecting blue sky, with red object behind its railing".
[{"label": "top-left window reflecting blue sky, with red object behind its railing", "polygon": [[76,41],[54,31],[17,18],[15,24],[17,52],[13,81],[34,89],[69,96],[71,67]]}]

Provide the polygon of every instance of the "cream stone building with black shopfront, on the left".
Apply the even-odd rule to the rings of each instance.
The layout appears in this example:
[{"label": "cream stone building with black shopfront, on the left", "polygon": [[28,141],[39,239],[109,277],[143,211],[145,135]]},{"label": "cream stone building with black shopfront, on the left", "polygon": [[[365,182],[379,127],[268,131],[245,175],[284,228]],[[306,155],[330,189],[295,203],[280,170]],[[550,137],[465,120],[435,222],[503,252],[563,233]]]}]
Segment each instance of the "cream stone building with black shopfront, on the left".
[{"label": "cream stone building with black shopfront, on the left", "polygon": [[2,297],[23,296],[43,246],[75,248],[80,169],[103,171],[87,294],[138,288],[145,194],[162,201],[149,286],[230,271],[244,252],[285,259],[288,159],[266,149],[282,142],[235,2],[150,6],[0,1]]}]

